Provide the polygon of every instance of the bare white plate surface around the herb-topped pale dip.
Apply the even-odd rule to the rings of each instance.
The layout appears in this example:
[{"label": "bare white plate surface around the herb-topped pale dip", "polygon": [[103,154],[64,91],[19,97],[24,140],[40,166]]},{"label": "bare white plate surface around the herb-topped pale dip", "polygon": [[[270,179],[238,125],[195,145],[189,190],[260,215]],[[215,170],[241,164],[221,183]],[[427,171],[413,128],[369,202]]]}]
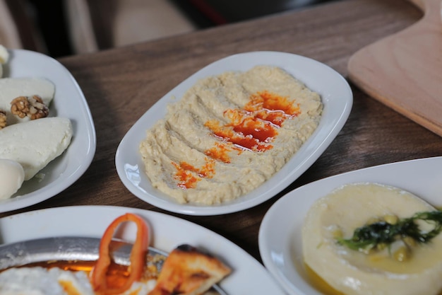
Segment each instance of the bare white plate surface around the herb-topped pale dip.
[{"label": "bare white plate surface around the herb-topped pale dip", "polygon": [[313,202],[348,183],[382,183],[414,193],[442,206],[442,157],[390,163],[318,180],[289,192],[265,214],[259,230],[259,250],[265,267],[293,295],[320,295],[304,269],[301,227]]}]

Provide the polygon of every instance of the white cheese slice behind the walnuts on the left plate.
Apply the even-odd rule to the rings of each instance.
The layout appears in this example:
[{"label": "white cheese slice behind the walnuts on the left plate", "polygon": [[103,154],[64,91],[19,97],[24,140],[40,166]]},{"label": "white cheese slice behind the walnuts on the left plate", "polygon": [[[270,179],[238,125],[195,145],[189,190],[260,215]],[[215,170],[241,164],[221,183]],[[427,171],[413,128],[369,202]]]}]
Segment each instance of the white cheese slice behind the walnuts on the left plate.
[{"label": "white cheese slice behind the walnuts on the left plate", "polygon": [[0,79],[0,109],[6,111],[6,122],[13,125],[29,121],[28,117],[20,119],[11,114],[11,101],[18,96],[38,95],[49,108],[54,98],[55,86],[44,78],[4,78]]}]

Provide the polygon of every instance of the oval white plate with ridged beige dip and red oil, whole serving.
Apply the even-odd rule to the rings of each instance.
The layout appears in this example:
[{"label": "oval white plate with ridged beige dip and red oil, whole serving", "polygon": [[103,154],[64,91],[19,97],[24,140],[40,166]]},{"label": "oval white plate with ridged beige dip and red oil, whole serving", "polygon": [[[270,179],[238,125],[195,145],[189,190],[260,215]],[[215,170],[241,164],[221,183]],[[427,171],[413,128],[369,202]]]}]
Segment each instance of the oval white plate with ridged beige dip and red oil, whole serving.
[{"label": "oval white plate with ridged beige dip and red oil, whole serving", "polygon": [[247,209],[296,180],[352,106],[347,81],[313,59],[246,52],[205,66],[160,98],[121,140],[121,181],[171,212]]}]

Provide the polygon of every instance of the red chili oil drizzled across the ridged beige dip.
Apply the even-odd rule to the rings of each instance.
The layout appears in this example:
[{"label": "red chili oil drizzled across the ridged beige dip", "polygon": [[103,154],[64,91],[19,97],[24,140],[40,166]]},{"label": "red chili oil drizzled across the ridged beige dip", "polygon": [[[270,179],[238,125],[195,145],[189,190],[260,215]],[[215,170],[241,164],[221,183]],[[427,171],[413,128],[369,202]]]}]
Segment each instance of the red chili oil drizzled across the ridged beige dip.
[{"label": "red chili oil drizzled across the ridged beige dip", "polygon": [[[205,165],[196,168],[189,163],[172,163],[177,168],[175,179],[183,189],[194,188],[202,178],[212,178],[215,174],[215,161],[230,163],[228,152],[233,149],[267,151],[277,137],[277,129],[285,120],[301,113],[299,104],[285,96],[262,91],[250,96],[250,101],[242,109],[229,109],[224,112],[229,123],[220,125],[216,120],[205,122],[215,136],[225,144],[217,143],[205,151]],[[229,147],[227,147],[229,145]]]}]

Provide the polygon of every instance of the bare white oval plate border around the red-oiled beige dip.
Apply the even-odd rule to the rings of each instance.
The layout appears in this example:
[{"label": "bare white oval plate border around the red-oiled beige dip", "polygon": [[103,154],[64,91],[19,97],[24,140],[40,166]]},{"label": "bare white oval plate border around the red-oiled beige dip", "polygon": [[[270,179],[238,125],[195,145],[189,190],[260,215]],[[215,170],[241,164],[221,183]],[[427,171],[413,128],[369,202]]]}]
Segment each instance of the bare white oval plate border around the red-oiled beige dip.
[{"label": "bare white oval plate border around the red-oiled beige dip", "polygon": [[[321,94],[323,117],[318,129],[292,159],[272,178],[249,194],[232,202],[215,206],[179,204],[156,190],[144,172],[138,151],[145,132],[166,114],[166,106],[181,98],[198,79],[225,71],[246,71],[256,65],[280,66],[306,86]],[[247,52],[220,59],[205,66],[163,96],[136,122],[121,140],[117,149],[117,172],[124,185],[140,199],[171,212],[189,215],[216,215],[238,212],[261,204],[296,180],[309,168],[345,124],[352,108],[353,96],[347,81],[325,64],[285,52]]]}]

